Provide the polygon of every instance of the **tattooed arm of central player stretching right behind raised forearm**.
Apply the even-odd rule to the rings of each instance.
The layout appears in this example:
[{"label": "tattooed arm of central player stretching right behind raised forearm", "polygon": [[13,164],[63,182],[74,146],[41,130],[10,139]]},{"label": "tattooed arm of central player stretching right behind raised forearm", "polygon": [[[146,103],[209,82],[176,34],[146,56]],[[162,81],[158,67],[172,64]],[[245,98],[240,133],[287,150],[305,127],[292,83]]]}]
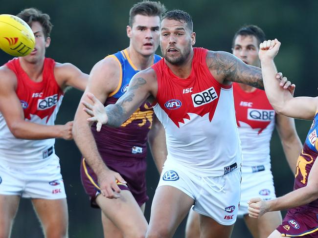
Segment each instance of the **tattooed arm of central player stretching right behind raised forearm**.
[{"label": "tattooed arm of central player stretching right behind raised forearm", "polygon": [[264,90],[262,70],[247,65],[234,55],[224,51],[208,51],[207,66],[213,77],[221,84],[243,83]]}]

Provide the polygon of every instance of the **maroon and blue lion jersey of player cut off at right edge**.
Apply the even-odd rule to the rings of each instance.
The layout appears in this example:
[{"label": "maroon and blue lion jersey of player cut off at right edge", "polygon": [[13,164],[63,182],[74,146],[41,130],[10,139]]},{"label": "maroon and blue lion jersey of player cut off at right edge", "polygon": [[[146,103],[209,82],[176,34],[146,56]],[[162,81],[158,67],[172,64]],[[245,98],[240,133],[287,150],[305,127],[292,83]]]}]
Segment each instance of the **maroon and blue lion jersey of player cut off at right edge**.
[{"label": "maroon and blue lion jersey of player cut off at right edge", "polygon": [[[309,173],[311,173],[311,168],[313,167],[318,156],[317,133],[318,111],[316,112],[314,121],[310,127],[310,130],[308,131],[306,141],[297,160],[294,190],[307,185]],[[318,213],[318,199],[312,201],[309,204],[301,206],[301,208],[307,209],[309,212]]]}]

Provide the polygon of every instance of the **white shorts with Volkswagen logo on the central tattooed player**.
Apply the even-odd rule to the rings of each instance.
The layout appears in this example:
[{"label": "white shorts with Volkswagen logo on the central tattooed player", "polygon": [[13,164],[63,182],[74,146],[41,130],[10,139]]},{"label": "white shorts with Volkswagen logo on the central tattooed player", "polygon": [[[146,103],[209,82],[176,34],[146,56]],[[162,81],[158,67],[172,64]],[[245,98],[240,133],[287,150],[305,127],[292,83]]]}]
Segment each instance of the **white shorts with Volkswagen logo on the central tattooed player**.
[{"label": "white shorts with Volkswagen logo on the central tattooed player", "polygon": [[158,187],[169,185],[181,190],[194,199],[194,211],[222,225],[232,225],[240,202],[240,181],[240,169],[218,177],[202,177],[169,162],[164,164]]}]

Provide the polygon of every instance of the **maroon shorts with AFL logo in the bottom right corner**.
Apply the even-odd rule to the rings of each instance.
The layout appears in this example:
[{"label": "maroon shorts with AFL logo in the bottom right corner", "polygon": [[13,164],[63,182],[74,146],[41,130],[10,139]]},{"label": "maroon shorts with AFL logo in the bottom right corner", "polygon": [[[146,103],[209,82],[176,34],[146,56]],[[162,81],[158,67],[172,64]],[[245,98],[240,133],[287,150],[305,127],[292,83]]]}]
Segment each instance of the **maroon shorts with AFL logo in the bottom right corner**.
[{"label": "maroon shorts with AFL logo in the bottom right corner", "polygon": [[318,214],[305,209],[289,209],[276,229],[282,237],[318,238]]}]

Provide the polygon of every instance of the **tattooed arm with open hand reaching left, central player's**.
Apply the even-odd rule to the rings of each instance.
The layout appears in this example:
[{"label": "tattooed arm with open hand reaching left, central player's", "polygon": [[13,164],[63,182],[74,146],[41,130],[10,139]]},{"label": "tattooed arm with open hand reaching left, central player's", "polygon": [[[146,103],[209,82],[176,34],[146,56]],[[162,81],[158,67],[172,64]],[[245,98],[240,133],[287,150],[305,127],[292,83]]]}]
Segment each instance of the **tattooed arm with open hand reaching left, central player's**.
[{"label": "tattooed arm with open hand reaching left, central player's", "polygon": [[127,92],[121,96],[116,104],[104,108],[98,99],[88,94],[93,105],[82,101],[84,110],[91,115],[89,121],[97,122],[96,130],[99,131],[102,124],[109,127],[120,127],[134,111],[149,98],[156,97],[158,90],[157,76],[152,68],[140,71],[130,81]]}]

